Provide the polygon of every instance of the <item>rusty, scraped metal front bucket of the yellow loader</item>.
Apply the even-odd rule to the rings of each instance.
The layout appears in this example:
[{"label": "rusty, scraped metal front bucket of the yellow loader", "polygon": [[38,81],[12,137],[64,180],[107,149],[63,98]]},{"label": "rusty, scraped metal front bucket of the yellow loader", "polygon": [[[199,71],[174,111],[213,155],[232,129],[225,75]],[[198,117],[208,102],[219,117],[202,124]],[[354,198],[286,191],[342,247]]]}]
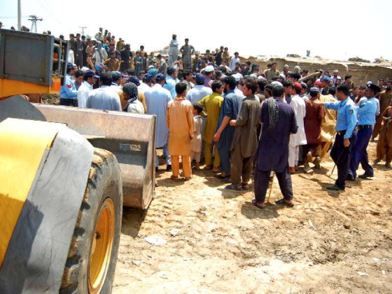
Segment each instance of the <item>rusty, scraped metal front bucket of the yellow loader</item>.
[{"label": "rusty, scraped metal front bucket of the yellow loader", "polygon": [[116,155],[123,205],[146,209],[155,181],[155,115],[32,103],[48,122],[66,123],[94,147]]}]

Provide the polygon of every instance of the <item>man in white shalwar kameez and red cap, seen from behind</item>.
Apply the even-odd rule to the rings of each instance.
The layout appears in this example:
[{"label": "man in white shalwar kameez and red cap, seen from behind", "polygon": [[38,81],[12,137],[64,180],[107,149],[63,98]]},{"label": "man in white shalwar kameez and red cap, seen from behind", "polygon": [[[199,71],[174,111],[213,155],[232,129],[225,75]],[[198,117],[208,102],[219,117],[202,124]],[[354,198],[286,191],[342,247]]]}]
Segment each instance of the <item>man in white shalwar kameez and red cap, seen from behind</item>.
[{"label": "man in white shalwar kameez and red cap, seen from behind", "polygon": [[298,169],[298,147],[299,145],[306,144],[306,135],[305,135],[305,127],[303,124],[303,118],[306,115],[306,106],[305,101],[299,97],[301,93],[302,86],[300,83],[295,82],[293,84],[293,92],[291,96],[290,105],[293,106],[295,112],[295,118],[298,125],[298,131],[296,134],[290,135],[289,141],[289,167],[290,172],[295,172],[295,167]]}]

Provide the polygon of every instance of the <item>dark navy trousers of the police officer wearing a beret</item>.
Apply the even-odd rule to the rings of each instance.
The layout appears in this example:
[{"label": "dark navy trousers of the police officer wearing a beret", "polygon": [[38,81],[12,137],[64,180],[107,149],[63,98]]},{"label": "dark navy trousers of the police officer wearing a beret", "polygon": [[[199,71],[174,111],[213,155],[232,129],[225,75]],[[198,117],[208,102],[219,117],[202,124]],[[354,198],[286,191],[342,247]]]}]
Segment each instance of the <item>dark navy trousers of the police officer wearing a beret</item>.
[{"label": "dark navy trousers of the police officer wearing a beret", "polygon": [[366,152],[372,132],[373,129],[371,127],[358,130],[357,142],[352,150],[352,157],[348,169],[348,173],[354,178],[357,176],[359,163],[361,163],[366,174],[373,174],[373,168],[369,165],[368,161],[368,152]]}]

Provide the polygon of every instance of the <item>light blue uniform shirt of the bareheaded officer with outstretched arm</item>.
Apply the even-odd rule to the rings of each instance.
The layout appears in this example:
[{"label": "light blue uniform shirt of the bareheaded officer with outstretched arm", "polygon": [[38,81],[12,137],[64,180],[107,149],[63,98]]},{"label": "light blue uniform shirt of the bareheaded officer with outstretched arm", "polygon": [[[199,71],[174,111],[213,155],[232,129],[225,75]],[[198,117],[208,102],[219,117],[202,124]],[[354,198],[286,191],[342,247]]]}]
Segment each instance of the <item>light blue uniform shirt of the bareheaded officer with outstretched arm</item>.
[{"label": "light blue uniform shirt of the bareheaded officer with outstretched arm", "polygon": [[350,138],[357,124],[357,107],[354,101],[350,97],[347,97],[344,101],[324,102],[324,107],[338,111],[335,129],[338,132],[346,130],[343,138]]}]

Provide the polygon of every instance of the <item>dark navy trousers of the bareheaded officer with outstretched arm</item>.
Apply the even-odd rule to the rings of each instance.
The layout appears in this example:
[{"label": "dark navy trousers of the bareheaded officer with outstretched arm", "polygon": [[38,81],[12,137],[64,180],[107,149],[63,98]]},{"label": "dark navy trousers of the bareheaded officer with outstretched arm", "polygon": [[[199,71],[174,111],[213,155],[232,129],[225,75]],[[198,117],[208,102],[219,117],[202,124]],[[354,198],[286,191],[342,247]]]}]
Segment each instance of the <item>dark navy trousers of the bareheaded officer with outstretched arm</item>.
[{"label": "dark navy trousers of the bareheaded officer with outstretched arm", "polygon": [[331,149],[331,158],[335,162],[336,167],[338,168],[338,179],[335,181],[335,184],[341,188],[345,188],[345,180],[347,178],[348,173],[348,165],[351,161],[352,149],[357,141],[357,134],[355,130],[352,132],[350,140],[350,146],[344,147],[343,140],[344,135],[337,134],[335,138],[334,145]]}]

